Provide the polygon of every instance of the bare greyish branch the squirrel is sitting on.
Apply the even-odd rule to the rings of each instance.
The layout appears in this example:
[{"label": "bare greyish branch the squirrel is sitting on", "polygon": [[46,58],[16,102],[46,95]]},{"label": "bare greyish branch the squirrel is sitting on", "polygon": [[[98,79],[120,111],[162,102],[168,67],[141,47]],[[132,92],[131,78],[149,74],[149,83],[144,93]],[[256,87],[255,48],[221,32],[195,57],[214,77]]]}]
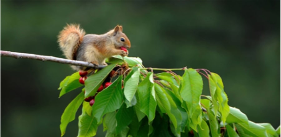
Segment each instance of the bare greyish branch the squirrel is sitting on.
[{"label": "bare greyish branch the squirrel is sitting on", "polygon": [[71,64],[71,65],[77,65],[77,66],[90,67],[90,68],[94,68],[94,69],[103,69],[105,67],[103,65],[96,65],[96,64],[92,64],[92,63],[84,62],[84,61],[63,59],[63,58],[57,58],[57,57],[53,57],[53,56],[44,56],[44,55],[37,55],[37,54],[3,51],[3,50],[1,50],[1,56],[14,57],[16,59],[26,58],[26,59],[37,59],[37,60],[41,60],[41,61],[52,61],[52,62],[57,62],[57,63],[62,63],[62,64]]}]

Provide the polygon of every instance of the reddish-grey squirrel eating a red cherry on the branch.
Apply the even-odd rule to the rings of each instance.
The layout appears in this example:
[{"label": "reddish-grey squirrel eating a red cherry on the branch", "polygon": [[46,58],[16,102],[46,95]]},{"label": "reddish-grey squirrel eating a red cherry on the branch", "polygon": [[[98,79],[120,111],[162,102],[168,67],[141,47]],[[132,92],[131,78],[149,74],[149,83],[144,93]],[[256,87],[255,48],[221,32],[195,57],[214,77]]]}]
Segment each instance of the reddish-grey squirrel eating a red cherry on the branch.
[{"label": "reddish-grey squirrel eating a red cherry on the branch", "polygon": [[[58,35],[60,49],[67,59],[86,61],[106,66],[105,59],[113,55],[127,56],[123,48],[131,48],[128,37],[122,32],[123,27],[117,25],[105,34],[86,34],[79,24],[67,24]],[[121,48],[122,47],[122,48]],[[121,50],[122,49],[122,50]],[[90,68],[71,66],[74,70],[87,71]]]}]

